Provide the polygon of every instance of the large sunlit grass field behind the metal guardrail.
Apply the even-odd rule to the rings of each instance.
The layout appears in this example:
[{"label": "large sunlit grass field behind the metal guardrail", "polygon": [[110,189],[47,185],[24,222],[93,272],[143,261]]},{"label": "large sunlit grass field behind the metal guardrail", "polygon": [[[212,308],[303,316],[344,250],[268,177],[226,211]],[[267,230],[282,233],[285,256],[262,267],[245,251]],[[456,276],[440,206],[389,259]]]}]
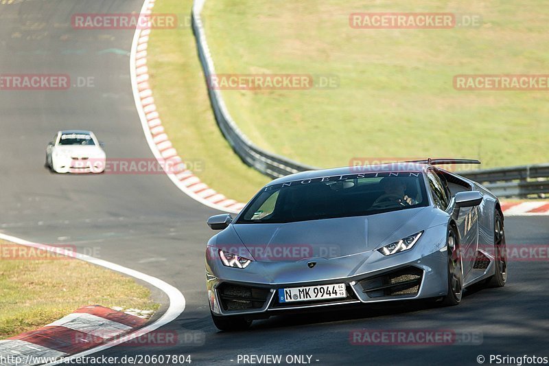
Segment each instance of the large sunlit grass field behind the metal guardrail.
[{"label": "large sunlit grass field behind the metal guardrail", "polygon": [[[352,12],[475,13],[483,24],[355,30]],[[484,168],[549,160],[549,92],[452,85],[456,74],[547,73],[543,1],[210,0],[203,16],[218,73],[340,78],[336,89],[222,91],[262,148],[318,167],[353,157],[469,157]]]}]

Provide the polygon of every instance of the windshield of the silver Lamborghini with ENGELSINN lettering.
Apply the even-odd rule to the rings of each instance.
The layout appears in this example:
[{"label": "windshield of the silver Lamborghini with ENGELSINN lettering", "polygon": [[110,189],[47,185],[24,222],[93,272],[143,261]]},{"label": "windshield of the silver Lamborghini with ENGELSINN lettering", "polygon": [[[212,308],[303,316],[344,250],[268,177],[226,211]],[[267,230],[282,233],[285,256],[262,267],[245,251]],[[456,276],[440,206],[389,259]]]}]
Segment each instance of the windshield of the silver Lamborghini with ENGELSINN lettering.
[{"label": "windshield of the silver Lamborghini with ENGELSINN lettering", "polygon": [[325,176],[264,187],[235,223],[366,216],[427,205],[421,172]]}]

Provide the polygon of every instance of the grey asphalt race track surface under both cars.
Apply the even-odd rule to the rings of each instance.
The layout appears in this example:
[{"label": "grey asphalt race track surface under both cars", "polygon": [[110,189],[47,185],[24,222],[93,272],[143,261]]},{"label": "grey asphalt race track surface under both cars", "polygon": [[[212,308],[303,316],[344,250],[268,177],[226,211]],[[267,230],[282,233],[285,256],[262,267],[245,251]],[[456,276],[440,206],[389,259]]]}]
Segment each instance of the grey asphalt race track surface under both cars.
[{"label": "grey asphalt race track surface under both cars", "polygon": [[[205,220],[213,209],[185,196],[163,174],[59,175],[43,166],[47,142],[63,128],[93,130],[111,159],[153,158],[130,86],[134,32],[75,30],[70,21],[75,13],[139,12],[141,5],[139,0],[0,1],[0,73],[71,77],[65,91],[0,90],[0,231],[35,242],[73,244],[83,253],[159,277],[187,300],[185,312],[163,328],[187,343],[119,345],[102,354],[190,354],[193,364],[227,365],[237,364],[239,354],[309,355],[318,365],[475,365],[478,355],[486,363],[490,354],[549,356],[547,260],[511,262],[504,288],[470,291],[453,308],[367,307],[275,317],[256,321],[246,332],[218,332],[207,307],[204,272],[205,243],[213,234]],[[90,77],[93,87],[79,87]],[[548,216],[506,218],[507,242],[548,244],[548,228]],[[482,343],[351,344],[349,332],[362,328],[476,332]]]}]

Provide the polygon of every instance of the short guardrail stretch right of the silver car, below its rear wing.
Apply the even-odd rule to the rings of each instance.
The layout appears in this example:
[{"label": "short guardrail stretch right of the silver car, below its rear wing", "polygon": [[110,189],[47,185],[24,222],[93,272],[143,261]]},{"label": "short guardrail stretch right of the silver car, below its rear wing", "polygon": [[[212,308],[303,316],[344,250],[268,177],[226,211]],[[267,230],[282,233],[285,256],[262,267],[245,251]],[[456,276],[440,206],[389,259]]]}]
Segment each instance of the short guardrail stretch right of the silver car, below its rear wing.
[{"label": "short guardrail stretch right of the silver car, below its rear wing", "polygon": [[498,197],[528,198],[549,194],[549,164],[457,173],[484,185]]}]

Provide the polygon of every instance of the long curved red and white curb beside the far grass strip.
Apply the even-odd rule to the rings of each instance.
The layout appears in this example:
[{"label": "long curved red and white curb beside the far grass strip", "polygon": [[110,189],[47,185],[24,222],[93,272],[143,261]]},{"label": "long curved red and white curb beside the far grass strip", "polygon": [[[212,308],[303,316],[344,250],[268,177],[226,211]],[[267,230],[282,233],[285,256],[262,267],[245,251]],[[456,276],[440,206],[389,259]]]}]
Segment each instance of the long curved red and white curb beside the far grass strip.
[{"label": "long curved red and white curb beside the far grass strip", "polygon": [[[145,1],[141,14],[151,14],[152,8],[154,8],[154,1]],[[166,171],[167,176],[170,177],[181,191],[209,207],[237,213],[244,207],[244,203],[239,203],[216,192],[205,183],[202,183],[193,172],[187,170],[183,159],[179,157],[164,131],[159,112],[156,111],[156,104],[154,104],[154,97],[152,96],[149,84],[147,48],[150,32],[151,30],[146,28],[135,31],[130,55],[130,73],[135,106],[137,107],[149,147],[159,162],[170,161],[172,163],[170,165],[181,167],[180,170],[177,170],[177,174]]]}]

